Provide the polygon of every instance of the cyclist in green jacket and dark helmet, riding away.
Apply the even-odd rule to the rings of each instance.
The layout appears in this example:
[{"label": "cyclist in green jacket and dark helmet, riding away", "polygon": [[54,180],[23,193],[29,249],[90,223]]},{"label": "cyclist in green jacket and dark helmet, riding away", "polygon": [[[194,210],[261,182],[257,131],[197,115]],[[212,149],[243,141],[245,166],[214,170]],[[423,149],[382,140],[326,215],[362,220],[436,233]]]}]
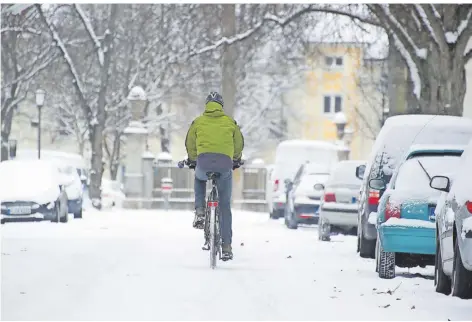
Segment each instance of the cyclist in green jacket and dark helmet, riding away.
[{"label": "cyclist in green jacket and dark helmet, riding away", "polygon": [[223,97],[211,92],[206,98],[205,112],[197,117],[187,133],[185,147],[188,162],[195,169],[195,219],[193,227],[203,229],[207,172],[218,172],[219,209],[221,212],[222,257],[233,259],[231,192],[232,170],[239,167],[244,137],[231,117],[223,111]]}]

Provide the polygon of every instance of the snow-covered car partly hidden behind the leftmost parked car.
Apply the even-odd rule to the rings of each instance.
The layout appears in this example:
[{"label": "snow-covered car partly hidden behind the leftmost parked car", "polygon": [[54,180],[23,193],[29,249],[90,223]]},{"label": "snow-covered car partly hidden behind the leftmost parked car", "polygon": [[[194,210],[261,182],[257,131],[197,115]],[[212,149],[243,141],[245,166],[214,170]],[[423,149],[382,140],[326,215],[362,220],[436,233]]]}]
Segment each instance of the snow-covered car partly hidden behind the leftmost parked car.
[{"label": "snow-covered car partly hidden behind the leftmost parked car", "polygon": [[82,181],[79,174],[73,166],[59,160],[52,160],[61,176],[63,182],[66,182],[65,190],[67,193],[67,208],[69,213],[74,214],[74,218],[82,218],[82,206],[84,191],[82,188]]}]

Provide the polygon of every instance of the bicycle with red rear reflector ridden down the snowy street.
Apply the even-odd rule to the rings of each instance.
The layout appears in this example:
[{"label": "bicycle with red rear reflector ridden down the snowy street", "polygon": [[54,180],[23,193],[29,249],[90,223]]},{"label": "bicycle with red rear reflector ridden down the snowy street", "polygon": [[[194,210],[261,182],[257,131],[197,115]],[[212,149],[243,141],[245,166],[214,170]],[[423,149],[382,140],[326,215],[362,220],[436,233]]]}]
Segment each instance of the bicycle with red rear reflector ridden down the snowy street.
[{"label": "bicycle with red rear reflector ridden down the snowy street", "polygon": [[[239,168],[243,165],[244,162],[234,162],[233,170]],[[196,164],[192,164],[188,160],[179,161],[179,168],[183,168],[187,165],[189,168],[195,169]],[[211,180],[211,192],[207,197],[207,207],[205,208],[205,220],[203,225],[203,232],[205,238],[205,244],[203,245],[203,250],[210,251],[210,267],[212,269],[216,268],[216,258],[218,256],[219,260],[227,261],[226,258],[222,258],[222,239],[221,239],[221,227],[220,227],[220,211],[219,211],[219,197],[218,197],[218,187],[216,185],[216,180],[220,177],[218,172],[207,172],[206,173],[208,180]]]}]

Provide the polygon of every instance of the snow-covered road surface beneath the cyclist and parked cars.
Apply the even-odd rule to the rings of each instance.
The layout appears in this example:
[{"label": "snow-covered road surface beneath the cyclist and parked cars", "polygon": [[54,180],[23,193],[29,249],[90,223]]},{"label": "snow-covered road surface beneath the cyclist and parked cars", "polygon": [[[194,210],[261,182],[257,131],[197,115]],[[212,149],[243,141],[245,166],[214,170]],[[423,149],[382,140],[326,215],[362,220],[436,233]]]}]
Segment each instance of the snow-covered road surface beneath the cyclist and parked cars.
[{"label": "snow-covered road surface beneath the cyclist and parked cars", "polygon": [[[433,269],[380,280],[355,236],[234,214],[232,262],[209,268],[190,212],[87,212],[2,225],[2,320],[464,320]],[[421,275],[420,275],[421,274]],[[398,288],[397,288],[398,287]],[[393,294],[387,291],[396,289]]]}]

